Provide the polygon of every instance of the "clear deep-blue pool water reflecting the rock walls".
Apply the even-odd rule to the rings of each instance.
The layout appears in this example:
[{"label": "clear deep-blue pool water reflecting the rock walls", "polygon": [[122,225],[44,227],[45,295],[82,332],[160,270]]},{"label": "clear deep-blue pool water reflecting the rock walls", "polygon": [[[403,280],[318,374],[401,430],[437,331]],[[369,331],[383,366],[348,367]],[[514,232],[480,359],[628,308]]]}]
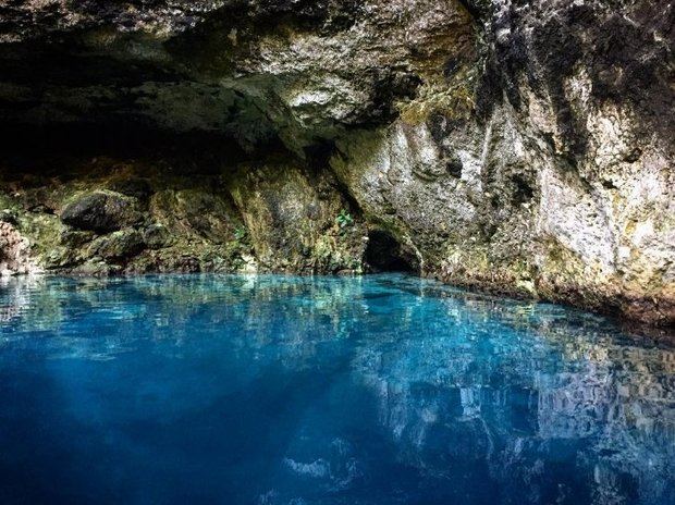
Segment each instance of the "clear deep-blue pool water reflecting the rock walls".
[{"label": "clear deep-blue pool water reflecting the rock walls", "polygon": [[0,503],[675,504],[675,349],[403,275],[12,280]]}]

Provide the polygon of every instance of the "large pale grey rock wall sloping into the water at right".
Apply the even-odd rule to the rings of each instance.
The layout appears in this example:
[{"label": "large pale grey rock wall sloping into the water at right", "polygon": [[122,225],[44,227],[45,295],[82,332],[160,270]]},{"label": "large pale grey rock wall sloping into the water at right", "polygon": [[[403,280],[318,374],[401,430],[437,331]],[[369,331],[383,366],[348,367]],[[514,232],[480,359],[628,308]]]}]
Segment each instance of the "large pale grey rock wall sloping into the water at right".
[{"label": "large pale grey rock wall sloping into the water at right", "polygon": [[672,9],[483,8],[470,113],[413,100],[340,141],[336,172],[433,275],[672,321]]}]

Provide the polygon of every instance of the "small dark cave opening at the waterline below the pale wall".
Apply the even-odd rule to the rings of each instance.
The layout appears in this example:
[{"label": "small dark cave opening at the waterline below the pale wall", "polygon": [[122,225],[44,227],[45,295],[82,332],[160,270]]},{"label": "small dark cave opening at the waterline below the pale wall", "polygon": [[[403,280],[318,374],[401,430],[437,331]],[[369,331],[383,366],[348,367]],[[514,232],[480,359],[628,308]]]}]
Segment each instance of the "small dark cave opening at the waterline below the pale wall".
[{"label": "small dark cave opening at the waterline below the pale wall", "polygon": [[379,229],[368,233],[366,264],[371,273],[420,273],[419,259],[415,251],[401,244],[390,232]]}]

